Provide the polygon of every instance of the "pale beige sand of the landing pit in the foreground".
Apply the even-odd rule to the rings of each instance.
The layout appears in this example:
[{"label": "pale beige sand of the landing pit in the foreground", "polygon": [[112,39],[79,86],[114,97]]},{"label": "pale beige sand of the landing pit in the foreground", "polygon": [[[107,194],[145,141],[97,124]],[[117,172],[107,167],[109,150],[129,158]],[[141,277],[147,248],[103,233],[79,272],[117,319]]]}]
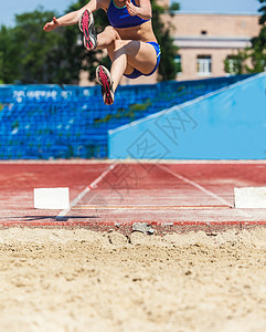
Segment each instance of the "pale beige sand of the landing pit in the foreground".
[{"label": "pale beige sand of the landing pit in the foreground", "polygon": [[0,230],[0,331],[265,331],[266,229]]}]

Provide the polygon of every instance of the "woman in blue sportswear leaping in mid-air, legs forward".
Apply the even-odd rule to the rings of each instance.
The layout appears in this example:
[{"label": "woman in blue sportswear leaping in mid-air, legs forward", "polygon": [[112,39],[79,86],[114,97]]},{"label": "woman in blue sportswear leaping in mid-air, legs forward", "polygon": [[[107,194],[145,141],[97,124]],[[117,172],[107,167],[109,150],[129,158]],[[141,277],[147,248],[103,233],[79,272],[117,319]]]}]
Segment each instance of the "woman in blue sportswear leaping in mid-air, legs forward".
[{"label": "woman in blue sportswear leaping in mid-air, legs forward", "polygon": [[[110,25],[98,35],[94,28],[93,12],[99,8],[107,13]],[[99,65],[96,79],[102,85],[104,102],[111,105],[121,76],[137,79],[153,74],[160,62],[160,46],[151,27],[150,0],[91,0],[77,11],[47,22],[43,30],[78,23],[84,46],[107,49],[111,60],[110,72]]]}]

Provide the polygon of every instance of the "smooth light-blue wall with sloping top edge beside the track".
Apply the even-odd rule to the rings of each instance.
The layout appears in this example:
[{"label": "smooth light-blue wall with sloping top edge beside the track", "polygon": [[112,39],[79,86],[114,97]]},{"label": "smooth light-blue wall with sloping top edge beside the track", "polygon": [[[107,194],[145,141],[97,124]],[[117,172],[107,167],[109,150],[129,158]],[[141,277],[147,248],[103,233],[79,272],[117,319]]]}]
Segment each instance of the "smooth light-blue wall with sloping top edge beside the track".
[{"label": "smooth light-blue wall with sloping top edge beside the track", "polygon": [[109,158],[265,159],[266,73],[108,132]]}]

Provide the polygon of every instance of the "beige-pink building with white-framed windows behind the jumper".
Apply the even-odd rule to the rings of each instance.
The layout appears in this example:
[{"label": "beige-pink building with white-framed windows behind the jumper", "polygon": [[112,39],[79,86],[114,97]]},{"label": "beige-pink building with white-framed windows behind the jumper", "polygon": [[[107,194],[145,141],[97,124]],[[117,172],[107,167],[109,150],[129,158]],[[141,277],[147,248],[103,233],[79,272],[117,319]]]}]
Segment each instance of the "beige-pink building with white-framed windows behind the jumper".
[{"label": "beige-pink building with white-framed windows behind the jumper", "polygon": [[[258,18],[258,14],[252,13],[177,11],[172,14],[162,14],[163,22],[172,25],[174,43],[179,46],[175,61],[179,63],[180,73],[177,80],[224,76],[225,59],[228,59],[231,73],[234,74],[234,60],[231,56],[249,45],[251,39],[258,35],[260,30]],[[81,85],[84,85],[85,81],[81,80]],[[156,82],[157,73],[137,80],[126,77],[121,80],[121,84]]]}]

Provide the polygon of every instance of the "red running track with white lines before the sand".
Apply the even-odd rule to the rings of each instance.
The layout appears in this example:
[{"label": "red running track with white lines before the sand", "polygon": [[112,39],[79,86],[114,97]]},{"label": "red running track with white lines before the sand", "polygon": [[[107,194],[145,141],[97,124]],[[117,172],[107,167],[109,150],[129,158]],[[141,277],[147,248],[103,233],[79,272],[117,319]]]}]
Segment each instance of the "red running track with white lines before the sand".
[{"label": "red running track with white lines before the sand", "polygon": [[[0,227],[243,229],[266,209],[235,209],[234,187],[265,185],[265,162],[2,162]],[[33,189],[52,187],[70,187],[70,209],[34,209]]]}]

